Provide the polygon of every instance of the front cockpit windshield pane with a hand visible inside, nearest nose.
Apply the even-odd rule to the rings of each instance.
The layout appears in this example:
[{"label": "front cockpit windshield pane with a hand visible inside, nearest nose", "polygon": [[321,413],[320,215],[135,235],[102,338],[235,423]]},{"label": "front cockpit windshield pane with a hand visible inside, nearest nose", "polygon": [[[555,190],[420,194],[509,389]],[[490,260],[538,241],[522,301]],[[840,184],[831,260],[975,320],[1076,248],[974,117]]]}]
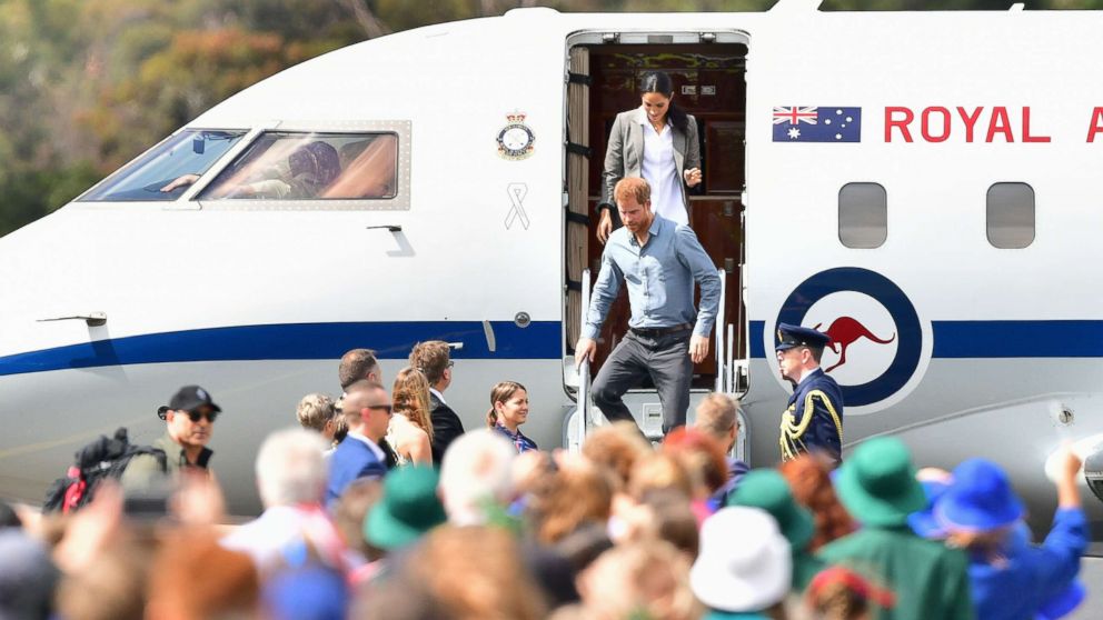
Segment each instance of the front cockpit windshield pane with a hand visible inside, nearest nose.
[{"label": "front cockpit windshield pane with a hand visible inside, nearest nose", "polygon": [[183,130],[147,151],[80,200],[176,200],[246,133],[244,130]]}]

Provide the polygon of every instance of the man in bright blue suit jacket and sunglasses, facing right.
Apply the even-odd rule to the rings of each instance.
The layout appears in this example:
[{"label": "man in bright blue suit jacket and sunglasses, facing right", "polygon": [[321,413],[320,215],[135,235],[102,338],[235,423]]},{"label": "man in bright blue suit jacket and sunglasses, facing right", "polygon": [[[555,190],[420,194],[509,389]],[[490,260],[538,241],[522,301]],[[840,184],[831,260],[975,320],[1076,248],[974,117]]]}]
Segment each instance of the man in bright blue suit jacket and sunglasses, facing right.
[{"label": "man in bright blue suit jacket and sunglasses, facing right", "polygon": [[365,379],[348,387],[342,411],[348,436],[329,459],[328,506],[332,507],[354,480],[387,473],[387,456],[379,443],[387,434],[390,412],[390,396],[381,384]]}]

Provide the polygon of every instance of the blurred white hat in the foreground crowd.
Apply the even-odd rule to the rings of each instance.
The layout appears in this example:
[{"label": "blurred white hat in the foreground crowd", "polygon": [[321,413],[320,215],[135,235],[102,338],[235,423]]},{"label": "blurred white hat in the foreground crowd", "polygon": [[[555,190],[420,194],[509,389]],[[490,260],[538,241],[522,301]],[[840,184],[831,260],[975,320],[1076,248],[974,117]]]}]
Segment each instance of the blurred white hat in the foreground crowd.
[{"label": "blurred white hat in the foreground crowd", "polygon": [[792,576],[789,543],[766,511],[724,508],[702,526],[689,586],[709,608],[762,611],[785,598]]}]

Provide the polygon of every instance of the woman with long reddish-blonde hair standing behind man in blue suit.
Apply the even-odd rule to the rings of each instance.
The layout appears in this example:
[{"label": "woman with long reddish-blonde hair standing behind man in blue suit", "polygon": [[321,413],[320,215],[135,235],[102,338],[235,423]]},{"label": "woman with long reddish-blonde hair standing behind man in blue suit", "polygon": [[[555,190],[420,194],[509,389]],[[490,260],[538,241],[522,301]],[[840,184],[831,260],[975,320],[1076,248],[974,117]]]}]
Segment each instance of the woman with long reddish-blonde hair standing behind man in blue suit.
[{"label": "woman with long reddish-blonde hair standing behind man in blue suit", "polygon": [[394,416],[387,429],[387,443],[395,449],[398,464],[433,466],[433,423],[429,422],[429,381],[419,370],[406,367],[395,378],[391,391]]}]

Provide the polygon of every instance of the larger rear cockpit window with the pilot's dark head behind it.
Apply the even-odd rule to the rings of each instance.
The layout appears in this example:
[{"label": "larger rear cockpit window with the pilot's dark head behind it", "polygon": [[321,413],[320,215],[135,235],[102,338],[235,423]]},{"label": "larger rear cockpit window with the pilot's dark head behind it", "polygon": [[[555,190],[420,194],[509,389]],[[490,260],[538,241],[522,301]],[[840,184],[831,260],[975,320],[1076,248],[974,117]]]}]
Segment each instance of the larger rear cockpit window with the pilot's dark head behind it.
[{"label": "larger rear cockpit window with the pilot's dark head behind it", "polygon": [[364,200],[398,192],[398,136],[267,131],[200,200]]}]

